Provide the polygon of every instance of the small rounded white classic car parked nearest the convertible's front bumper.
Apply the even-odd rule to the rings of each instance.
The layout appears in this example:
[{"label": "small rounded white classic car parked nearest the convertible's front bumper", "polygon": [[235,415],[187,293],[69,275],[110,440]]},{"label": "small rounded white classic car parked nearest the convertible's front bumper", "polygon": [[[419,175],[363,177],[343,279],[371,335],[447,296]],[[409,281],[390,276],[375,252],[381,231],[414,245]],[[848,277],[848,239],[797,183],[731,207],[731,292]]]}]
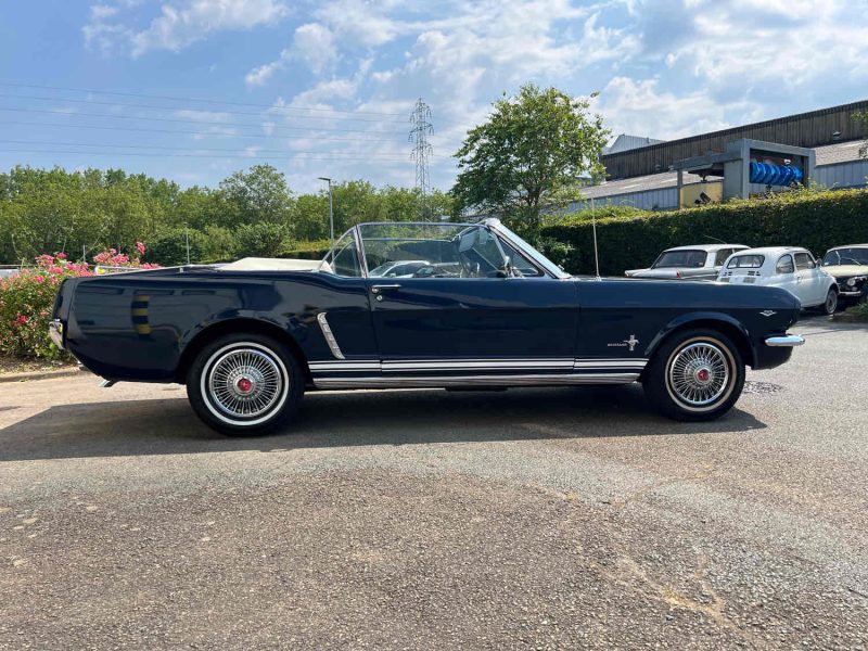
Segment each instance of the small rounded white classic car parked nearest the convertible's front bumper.
[{"label": "small rounded white classic car parked nearest the convertible's front bumper", "polygon": [[827,315],[838,309],[834,278],[820,268],[807,248],[799,246],[739,251],[726,260],[717,280],[783,288],[802,302],[802,308],[817,307]]}]

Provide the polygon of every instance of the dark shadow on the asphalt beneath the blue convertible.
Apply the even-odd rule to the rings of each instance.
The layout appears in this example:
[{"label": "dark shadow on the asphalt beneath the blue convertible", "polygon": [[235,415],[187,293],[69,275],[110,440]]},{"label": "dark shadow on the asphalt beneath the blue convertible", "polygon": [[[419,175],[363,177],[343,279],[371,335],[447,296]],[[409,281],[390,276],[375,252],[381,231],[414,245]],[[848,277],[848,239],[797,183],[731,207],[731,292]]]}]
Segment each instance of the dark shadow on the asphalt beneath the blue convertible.
[{"label": "dark shadow on the asphalt beneath the blue convertible", "polygon": [[64,405],[0,430],[0,461],[177,455],[366,445],[743,433],[766,425],[733,409],[709,423],[652,413],[638,386],[509,392],[312,393],[285,431],[227,438],[187,400]]}]

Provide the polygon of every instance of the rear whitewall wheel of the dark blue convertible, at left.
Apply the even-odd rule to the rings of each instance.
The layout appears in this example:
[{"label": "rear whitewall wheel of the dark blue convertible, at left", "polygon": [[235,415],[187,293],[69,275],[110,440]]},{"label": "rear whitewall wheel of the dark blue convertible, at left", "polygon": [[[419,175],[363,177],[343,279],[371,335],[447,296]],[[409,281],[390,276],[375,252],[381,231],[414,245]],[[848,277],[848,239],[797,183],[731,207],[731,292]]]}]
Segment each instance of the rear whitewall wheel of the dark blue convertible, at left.
[{"label": "rear whitewall wheel of the dark blue convertible, at left", "polygon": [[265,434],[286,423],[304,394],[298,362],[260,334],[229,334],[207,344],[187,374],[196,414],[228,436]]}]

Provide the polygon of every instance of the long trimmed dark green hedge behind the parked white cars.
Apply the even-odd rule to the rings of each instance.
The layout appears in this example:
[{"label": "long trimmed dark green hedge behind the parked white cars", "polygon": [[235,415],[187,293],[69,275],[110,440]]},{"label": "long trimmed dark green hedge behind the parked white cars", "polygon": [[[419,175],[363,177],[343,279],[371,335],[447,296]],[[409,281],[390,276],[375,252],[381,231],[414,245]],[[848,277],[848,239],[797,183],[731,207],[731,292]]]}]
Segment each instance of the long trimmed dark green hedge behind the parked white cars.
[{"label": "long trimmed dark green hedge behind the parked white cars", "polygon": [[[569,217],[566,218],[569,219]],[[590,222],[541,230],[544,248],[571,273],[593,273]],[[832,246],[868,242],[868,190],[800,191],[668,213],[600,219],[600,273],[651,265],[671,246],[716,241],[748,246],[804,246],[822,255]]]}]

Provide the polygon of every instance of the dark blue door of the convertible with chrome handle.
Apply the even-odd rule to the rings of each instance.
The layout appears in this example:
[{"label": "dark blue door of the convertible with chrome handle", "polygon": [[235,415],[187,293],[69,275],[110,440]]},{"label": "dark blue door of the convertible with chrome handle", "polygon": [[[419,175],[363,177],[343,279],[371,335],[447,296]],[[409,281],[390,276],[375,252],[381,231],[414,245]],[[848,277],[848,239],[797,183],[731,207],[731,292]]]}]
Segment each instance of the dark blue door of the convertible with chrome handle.
[{"label": "dark blue door of the convertible with chrome handle", "polygon": [[[474,237],[461,253],[461,276],[368,279],[383,373],[572,371],[575,283],[551,278],[523,257],[512,267],[524,265],[534,275],[505,276],[497,264],[518,252],[505,251],[487,228]],[[449,263],[437,264],[443,269]]]}]

